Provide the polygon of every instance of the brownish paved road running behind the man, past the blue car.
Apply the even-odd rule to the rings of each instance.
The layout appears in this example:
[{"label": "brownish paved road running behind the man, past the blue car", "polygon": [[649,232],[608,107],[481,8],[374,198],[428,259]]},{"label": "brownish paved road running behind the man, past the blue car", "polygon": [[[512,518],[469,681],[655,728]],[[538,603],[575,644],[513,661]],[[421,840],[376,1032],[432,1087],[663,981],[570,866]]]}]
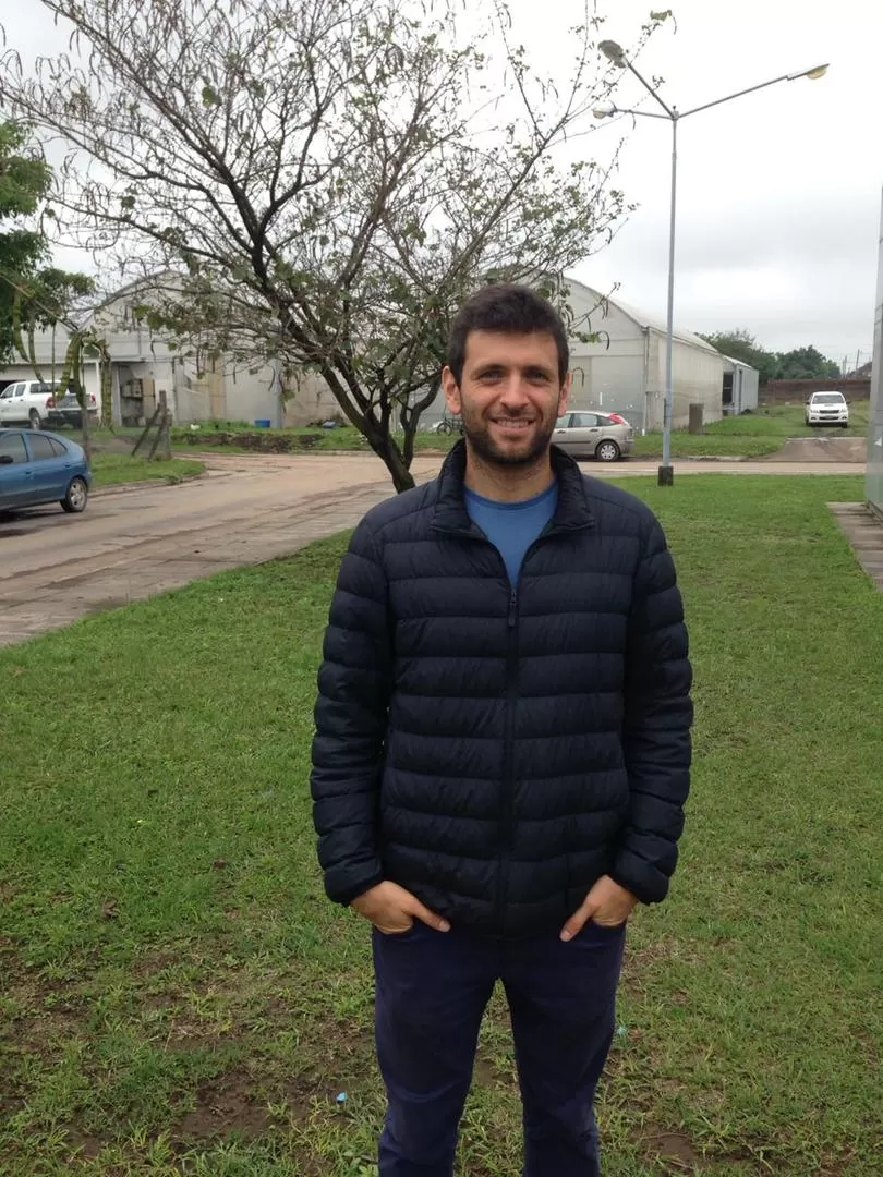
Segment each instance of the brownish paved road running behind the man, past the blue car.
[{"label": "brownish paved road running behind the man, past the blue car", "polygon": [[[95,494],[84,516],[58,507],[0,517],[0,645],[59,629],[227,568],[288,554],[352,526],[391,493],[369,454],[212,454],[206,478]],[[440,465],[420,457],[418,481]],[[602,477],[655,474],[656,461],[587,464]],[[859,473],[855,463],[677,463],[698,473]]]}]

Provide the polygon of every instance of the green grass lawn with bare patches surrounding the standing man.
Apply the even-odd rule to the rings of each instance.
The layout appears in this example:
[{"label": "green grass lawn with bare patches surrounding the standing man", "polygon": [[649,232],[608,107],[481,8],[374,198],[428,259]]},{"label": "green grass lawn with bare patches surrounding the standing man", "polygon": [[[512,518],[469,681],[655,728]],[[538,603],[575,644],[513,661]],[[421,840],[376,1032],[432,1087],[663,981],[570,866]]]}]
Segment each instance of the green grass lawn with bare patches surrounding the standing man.
[{"label": "green grass lawn with bare patches surrounding the standing man", "polygon": [[[870,1177],[883,596],[825,506],[862,483],[628,490],[678,560],[697,763],[630,933],[605,1177]],[[367,929],[323,897],[307,797],[343,548],[0,651],[2,1177],[376,1173]],[[496,1002],[460,1172],[514,1177],[518,1136]]]}]

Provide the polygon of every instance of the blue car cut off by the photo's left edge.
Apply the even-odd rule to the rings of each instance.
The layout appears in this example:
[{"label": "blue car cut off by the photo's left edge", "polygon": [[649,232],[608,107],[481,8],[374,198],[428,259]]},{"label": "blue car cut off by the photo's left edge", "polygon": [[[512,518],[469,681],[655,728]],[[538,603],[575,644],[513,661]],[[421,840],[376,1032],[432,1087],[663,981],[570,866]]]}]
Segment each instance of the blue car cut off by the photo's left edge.
[{"label": "blue car cut off by the photo's left edge", "polygon": [[0,511],[59,503],[86,510],[92,471],[82,446],[55,433],[0,430]]}]

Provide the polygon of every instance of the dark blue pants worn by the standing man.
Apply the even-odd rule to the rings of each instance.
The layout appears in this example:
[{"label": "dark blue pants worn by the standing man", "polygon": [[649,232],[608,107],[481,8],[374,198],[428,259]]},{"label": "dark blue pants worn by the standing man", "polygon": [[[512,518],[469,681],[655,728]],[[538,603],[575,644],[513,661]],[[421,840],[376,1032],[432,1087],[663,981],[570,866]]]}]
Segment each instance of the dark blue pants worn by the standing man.
[{"label": "dark blue pants worn by the standing man", "polygon": [[624,929],[492,940],[374,931],[380,1177],[451,1177],[487,1000],[499,979],[524,1105],[524,1177],[598,1177],[595,1089],[610,1050]]}]

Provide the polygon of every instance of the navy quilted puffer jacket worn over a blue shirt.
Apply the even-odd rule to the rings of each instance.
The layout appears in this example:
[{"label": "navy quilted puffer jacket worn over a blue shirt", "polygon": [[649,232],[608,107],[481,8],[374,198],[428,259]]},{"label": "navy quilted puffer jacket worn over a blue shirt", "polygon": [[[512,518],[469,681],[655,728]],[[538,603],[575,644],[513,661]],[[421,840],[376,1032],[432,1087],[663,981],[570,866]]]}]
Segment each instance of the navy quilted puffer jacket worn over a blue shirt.
[{"label": "navy quilted puffer jacket worn over a blue shirt", "polygon": [[690,778],[691,671],[652,512],[560,451],[518,585],[440,477],[371,511],[340,567],[312,793],[328,896],[383,879],[451,924],[559,929],[610,875],[665,897]]}]

